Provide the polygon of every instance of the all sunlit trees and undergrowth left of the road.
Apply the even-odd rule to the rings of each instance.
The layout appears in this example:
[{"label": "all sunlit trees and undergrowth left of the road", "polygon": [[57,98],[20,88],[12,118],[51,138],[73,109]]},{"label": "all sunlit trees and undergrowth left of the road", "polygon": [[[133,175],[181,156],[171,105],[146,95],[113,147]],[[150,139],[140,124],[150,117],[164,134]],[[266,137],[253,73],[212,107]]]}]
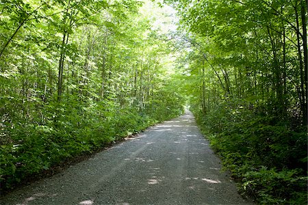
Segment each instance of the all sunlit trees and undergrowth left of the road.
[{"label": "all sunlit trees and undergrowth left of the road", "polygon": [[0,4],[2,191],[182,113],[155,18],[108,2]]}]

